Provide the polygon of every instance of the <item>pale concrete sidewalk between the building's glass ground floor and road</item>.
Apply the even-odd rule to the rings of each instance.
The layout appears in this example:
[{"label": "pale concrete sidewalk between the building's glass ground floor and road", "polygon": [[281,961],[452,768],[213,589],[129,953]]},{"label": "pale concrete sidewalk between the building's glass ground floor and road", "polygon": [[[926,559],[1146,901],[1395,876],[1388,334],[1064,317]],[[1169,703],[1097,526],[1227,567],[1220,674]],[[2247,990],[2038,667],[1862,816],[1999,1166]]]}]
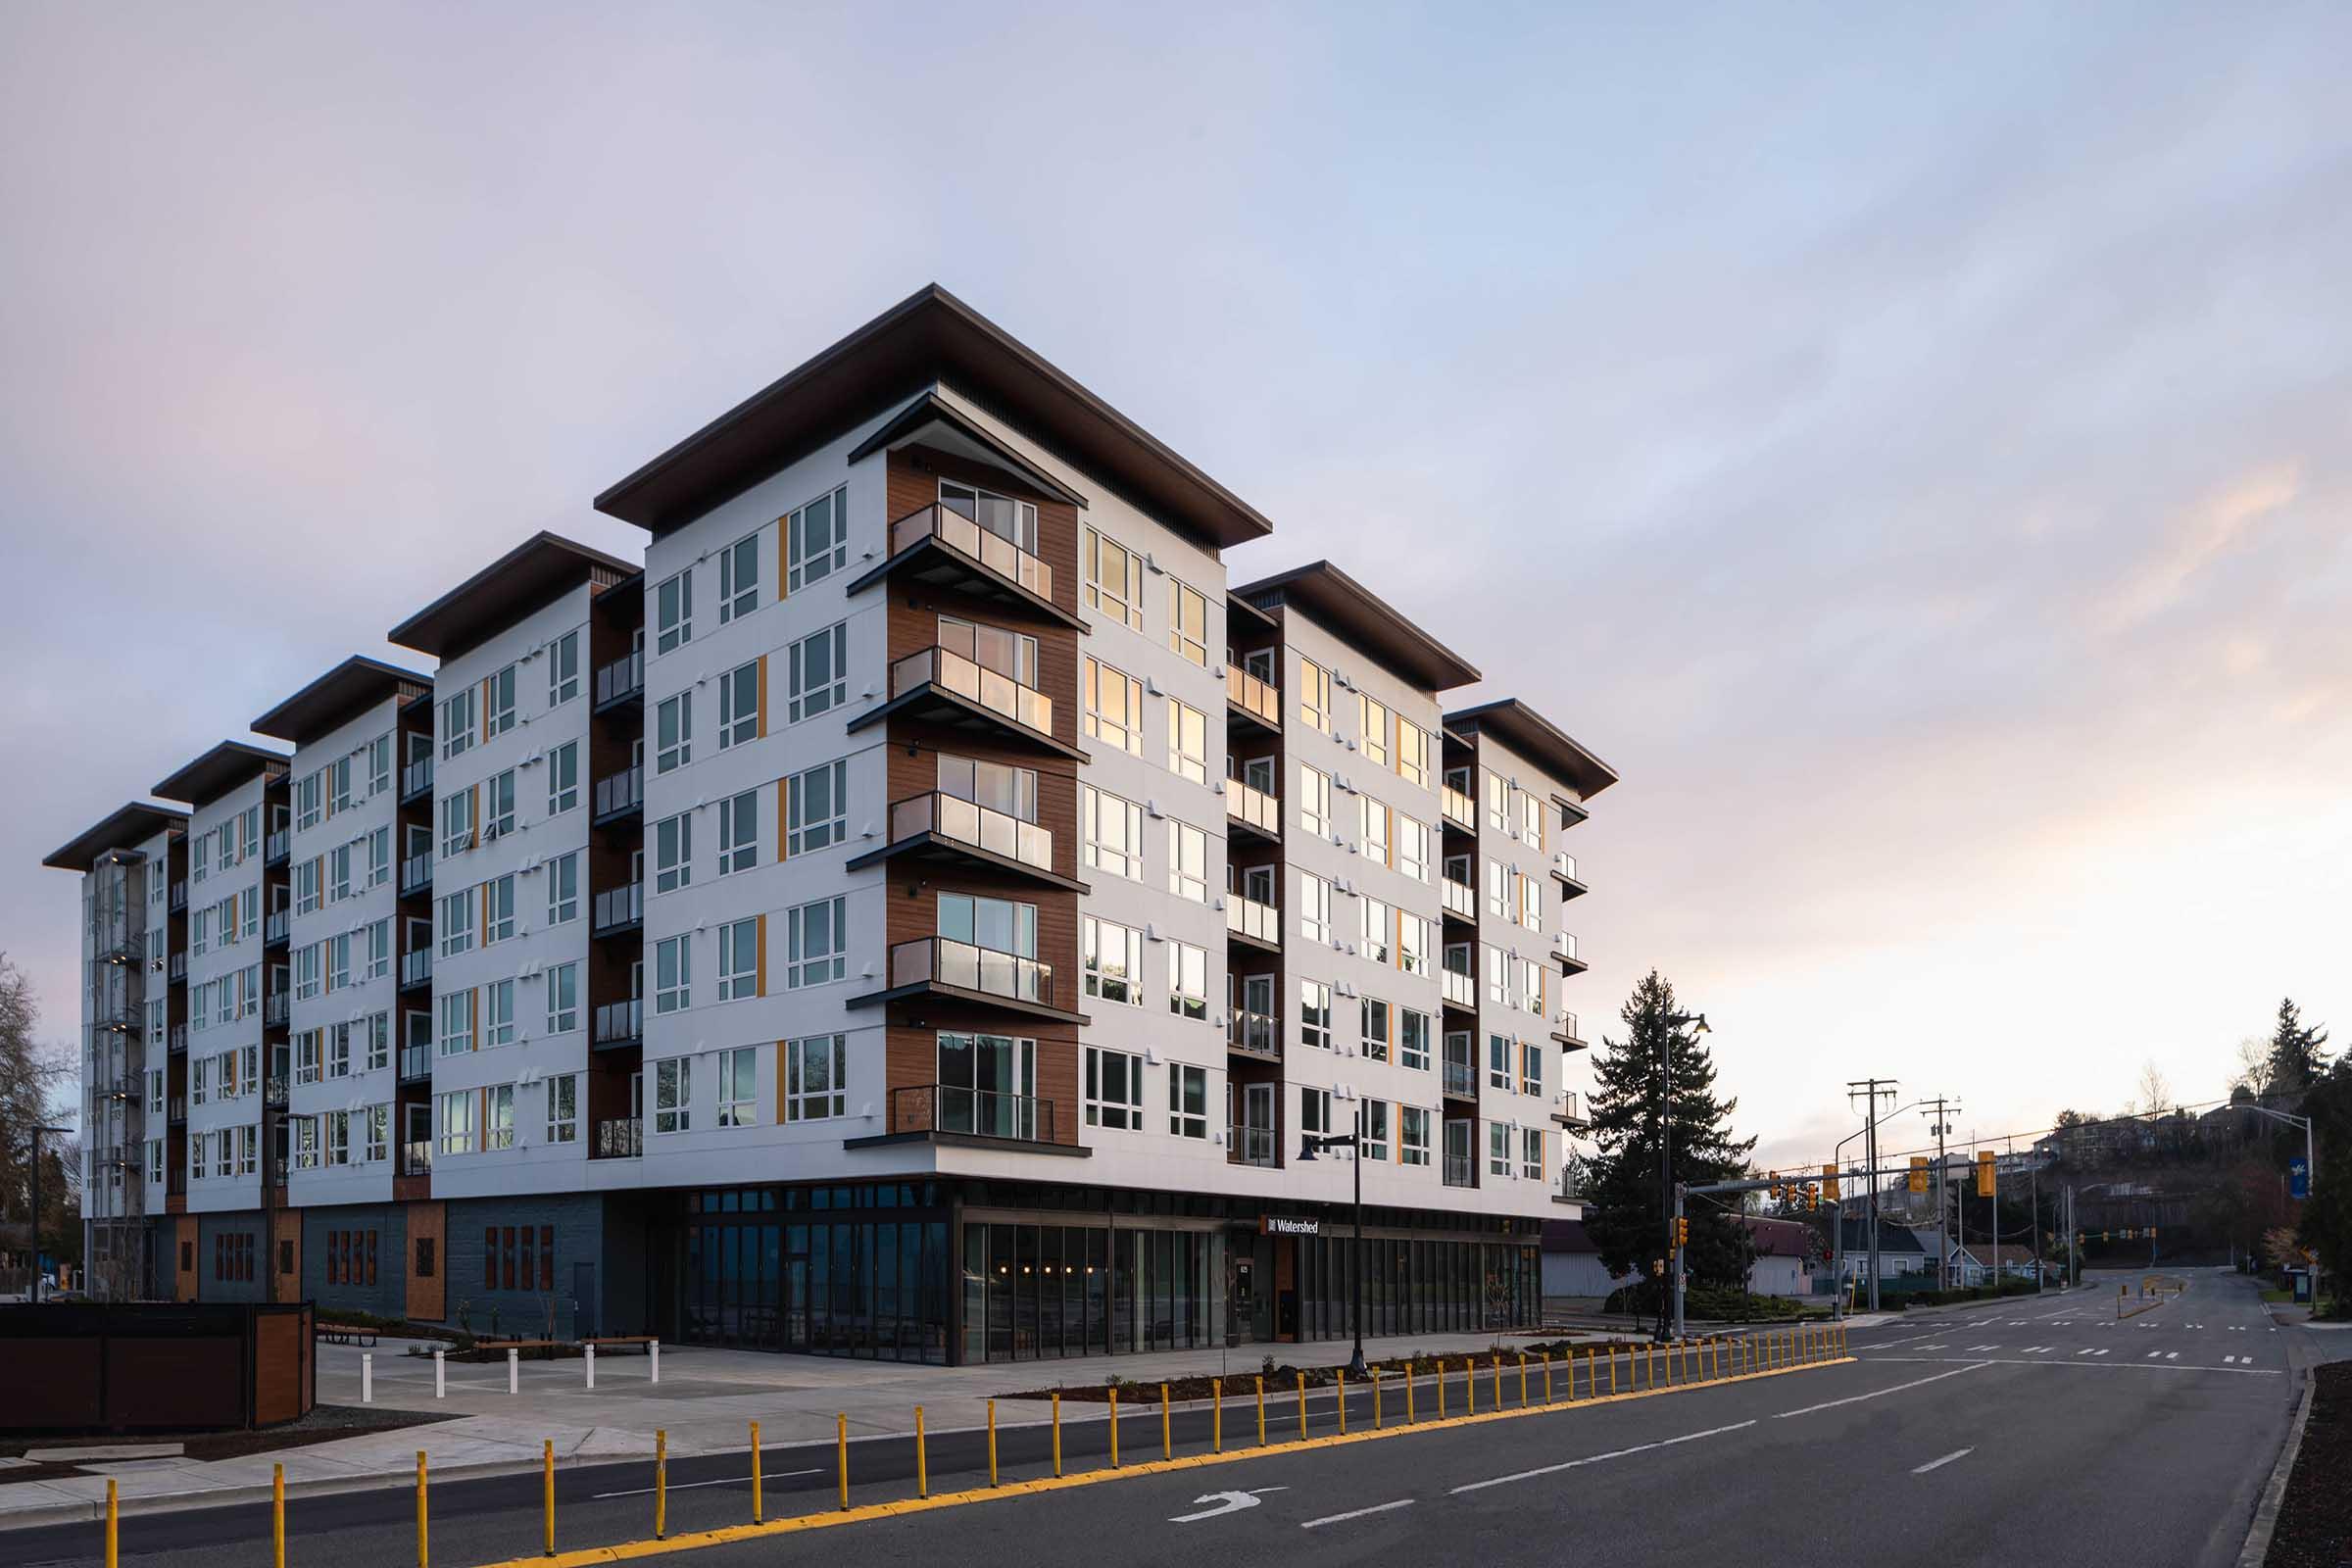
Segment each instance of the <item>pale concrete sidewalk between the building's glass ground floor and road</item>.
[{"label": "pale concrete sidewalk between the building's glass ground floor and road", "polygon": [[[1463,1356],[1512,1342],[1515,1338],[1494,1333],[1399,1335],[1367,1340],[1364,1356]],[[1007,1394],[1056,1382],[1098,1382],[1112,1373],[1138,1385],[1192,1375],[1247,1380],[1265,1356],[1294,1366],[1338,1366],[1350,1352],[1345,1340],[1319,1340],[1014,1366],[910,1366],[666,1347],[659,1385],[652,1382],[652,1359],[635,1354],[597,1356],[595,1389],[586,1387],[586,1361],[524,1361],[517,1394],[506,1392],[503,1363],[445,1363],[447,1394],[433,1399],[433,1361],[409,1356],[407,1345],[409,1340],[383,1340],[372,1352],[374,1403],[456,1420],[238,1460],[129,1460],[92,1465],[73,1479],[0,1483],[0,1530],[96,1516],[106,1505],[106,1476],[115,1479],[122,1512],[169,1512],[263,1500],[273,1465],[285,1465],[287,1495],[409,1486],[419,1448],[435,1479],[536,1472],[541,1441],[555,1443],[557,1465],[644,1460],[654,1453],[656,1427],[668,1434],[670,1458],[741,1450],[748,1446],[750,1422],[760,1422],[762,1450],[802,1443],[830,1448],[837,1415],[849,1418],[851,1441],[906,1436],[915,1429],[915,1406],[922,1406],[924,1427],[941,1434],[985,1427],[988,1401],[1000,1399],[997,1427],[1035,1427],[1051,1420],[1049,1403],[1004,1399]],[[318,1347],[318,1403],[360,1403],[362,1354],[367,1352],[350,1345]],[[1063,1403],[1061,1418],[1103,1420],[1105,1408],[1091,1401]]]}]

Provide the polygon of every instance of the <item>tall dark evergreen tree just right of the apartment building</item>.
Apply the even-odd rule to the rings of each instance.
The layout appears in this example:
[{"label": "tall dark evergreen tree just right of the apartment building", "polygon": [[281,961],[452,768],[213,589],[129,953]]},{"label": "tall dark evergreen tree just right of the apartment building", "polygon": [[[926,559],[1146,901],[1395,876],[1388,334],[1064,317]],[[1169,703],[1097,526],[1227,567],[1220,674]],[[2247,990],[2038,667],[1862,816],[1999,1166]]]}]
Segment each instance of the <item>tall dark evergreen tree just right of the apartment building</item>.
[{"label": "tall dark evergreen tree just right of the apartment building", "polygon": [[[1604,1037],[1592,1060],[1592,1180],[1585,1187],[1585,1232],[1611,1274],[1639,1274],[1644,1307],[1661,1305],[1651,1260],[1665,1255],[1672,1197],[1658,1187],[1661,1110],[1672,1175],[1679,1182],[1722,1182],[1750,1173],[1755,1138],[1733,1138],[1738,1100],[1715,1095],[1715,1058],[1698,1034],[1670,1025],[1682,1006],[1656,969],[1632,987],[1618,1011],[1623,1044]],[[1663,1063],[1663,1074],[1661,1074]],[[1686,1267],[1693,1284],[1748,1288],[1755,1244],[1738,1222],[1738,1201],[1693,1199]]]}]

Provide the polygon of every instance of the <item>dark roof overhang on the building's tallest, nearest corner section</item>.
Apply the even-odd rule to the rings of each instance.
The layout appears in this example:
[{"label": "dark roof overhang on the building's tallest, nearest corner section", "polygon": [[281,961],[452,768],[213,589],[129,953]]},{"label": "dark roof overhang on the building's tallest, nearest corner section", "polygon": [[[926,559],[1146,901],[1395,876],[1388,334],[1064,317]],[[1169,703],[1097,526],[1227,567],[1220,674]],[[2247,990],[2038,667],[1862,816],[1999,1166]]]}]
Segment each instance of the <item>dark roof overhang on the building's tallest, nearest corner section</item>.
[{"label": "dark roof overhang on the building's tallest, nearest corner section", "polygon": [[971,397],[1209,545],[1272,534],[1275,524],[1256,508],[938,284],[917,289],[612,484],[595,510],[668,534],[934,383]]}]

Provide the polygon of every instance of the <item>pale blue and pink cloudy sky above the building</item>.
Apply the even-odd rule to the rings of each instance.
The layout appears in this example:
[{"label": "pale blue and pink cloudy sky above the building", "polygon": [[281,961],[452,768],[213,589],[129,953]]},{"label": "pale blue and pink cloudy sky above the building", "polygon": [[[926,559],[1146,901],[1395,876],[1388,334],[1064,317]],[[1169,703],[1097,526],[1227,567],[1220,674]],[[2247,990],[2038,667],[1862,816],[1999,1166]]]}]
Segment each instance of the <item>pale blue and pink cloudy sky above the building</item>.
[{"label": "pale blue and pink cloudy sky above the building", "polygon": [[[1609,759],[1757,1159],[2352,1037],[2343,7],[7,7],[40,856],[941,282]],[[1588,1070],[1571,1067],[1571,1084]],[[1896,1124],[1917,1128],[1903,1112]],[[1896,1138],[1900,1143],[1900,1138]]]}]

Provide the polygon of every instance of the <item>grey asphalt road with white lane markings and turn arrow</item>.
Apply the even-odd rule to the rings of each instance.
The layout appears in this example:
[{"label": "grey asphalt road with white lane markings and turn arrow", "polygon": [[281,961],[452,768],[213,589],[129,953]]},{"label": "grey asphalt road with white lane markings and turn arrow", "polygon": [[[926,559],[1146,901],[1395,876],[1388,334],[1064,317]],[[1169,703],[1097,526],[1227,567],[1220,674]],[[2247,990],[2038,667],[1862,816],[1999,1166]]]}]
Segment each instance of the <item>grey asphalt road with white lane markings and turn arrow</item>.
[{"label": "grey asphalt road with white lane markings and turn arrow", "polygon": [[[1232,1563],[1555,1563],[1564,1547],[1637,1563],[2234,1563],[2293,1415],[2293,1335],[2270,1326],[2251,1281],[2192,1279],[2185,1298],[2122,1324],[2093,1281],[2023,1307],[1858,1331],[1853,1366],[1345,1448],[1284,1453],[1296,1401],[1275,1401],[1277,1446],[1263,1458],[713,1547],[694,1563],[823,1554],[830,1568],[896,1568],[908,1554],[953,1554],[1098,1568],[1197,1563],[1202,1552]],[[1517,1396],[1508,1375],[1505,1389]],[[1458,1394],[1456,1382],[1456,1413]],[[1397,1406],[1390,1389],[1390,1418]],[[1352,1403],[1350,1425],[1364,1415]],[[1228,1448],[1251,1441],[1251,1425],[1247,1406],[1228,1406]],[[1308,1429],[1331,1429],[1329,1401]],[[1178,1453],[1207,1439],[1204,1413],[1176,1418]],[[1044,1474],[1044,1441],[1007,1432],[1002,1474]],[[1101,1465],[1103,1422],[1068,1425],[1063,1441],[1068,1469]],[[1157,1455],[1155,1408],[1122,1420],[1122,1450]],[[854,1502],[913,1495],[910,1443],[851,1453]],[[978,1436],[936,1436],[929,1458],[934,1493],[985,1481]],[[764,1469],[771,1519],[833,1507],[828,1453],[771,1450]],[[741,1455],[670,1465],[670,1533],[746,1521],[746,1476]],[[647,1465],[560,1472],[557,1544],[649,1535],[649,1486]],[[536,1554],[539,1528],[536,1476],[433,1488],[435,1563]],[[89,1563],[96,1535],[0,1535],[0,1561]],[[266,1542],[256,1507],[122,1521],[125,1561],[158,1568],[268,1561]],[[414,1563],[414,1497],[299,1500],[287,1561]]]}]

